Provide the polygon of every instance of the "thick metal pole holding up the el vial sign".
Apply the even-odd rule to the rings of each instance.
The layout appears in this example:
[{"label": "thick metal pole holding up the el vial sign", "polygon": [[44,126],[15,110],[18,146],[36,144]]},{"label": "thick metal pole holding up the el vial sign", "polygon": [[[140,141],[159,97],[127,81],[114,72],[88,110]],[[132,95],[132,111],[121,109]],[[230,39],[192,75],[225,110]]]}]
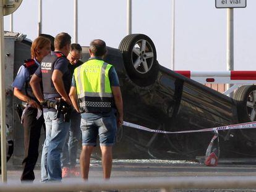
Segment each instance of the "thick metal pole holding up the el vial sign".
[{"label": "thick metal pole holding up the el vial sign", "polygon": [[[227,9],[227,70],[234,70],[234,9]],[[231,87],[227,84],[227,90]]]}]

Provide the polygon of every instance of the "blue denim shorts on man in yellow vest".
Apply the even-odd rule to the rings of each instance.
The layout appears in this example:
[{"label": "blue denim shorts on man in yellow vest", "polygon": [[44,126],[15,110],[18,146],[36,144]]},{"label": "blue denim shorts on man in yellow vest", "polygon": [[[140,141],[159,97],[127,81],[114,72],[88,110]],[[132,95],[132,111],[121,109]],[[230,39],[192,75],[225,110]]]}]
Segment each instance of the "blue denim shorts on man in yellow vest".
[{"label": "blue denim shorts on man in yellow vest", "polygon": [[116,139],[116,116],[110,114],[98,119],[81,119],[82,145],[96,146],[99,135],[100,146],[113,146]]}]

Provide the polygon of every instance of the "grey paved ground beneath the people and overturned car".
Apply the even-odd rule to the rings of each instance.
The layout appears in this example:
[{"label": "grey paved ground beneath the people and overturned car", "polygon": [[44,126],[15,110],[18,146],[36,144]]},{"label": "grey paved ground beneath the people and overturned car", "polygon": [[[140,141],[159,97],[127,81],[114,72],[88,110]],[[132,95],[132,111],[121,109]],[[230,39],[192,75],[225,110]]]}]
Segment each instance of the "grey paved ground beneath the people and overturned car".
[{"label": "grey paved ground beneath the people and overturned car", "polygon": [[[90,180],[100,180],[102,175],[100,161],[92,161],[90,167]],[[12,167],[8,165],[7,179],[8,184],[20,183],[19,178],[22,172],[22,167]],[[140,177],[190,177],[190,178],[205,178],[205,177],[256,177],[256,165],[237,165],[237,164],[222,164],[217,167],[206,167],[197,162],[188,161],[156,161],[156,160],[115,160],[113,162],[112,178],[140,178]],[[34,183],[40,183],[40,167],[35,170],[36,180]],[[81,178],[65,178],[62,182],[80,181]],[[1,191],[1,188],[0,188]],[[133,191],[159,191],[159,190],[133,190]],[[184,191],[256,191],[256,190],[176,190]]]}]

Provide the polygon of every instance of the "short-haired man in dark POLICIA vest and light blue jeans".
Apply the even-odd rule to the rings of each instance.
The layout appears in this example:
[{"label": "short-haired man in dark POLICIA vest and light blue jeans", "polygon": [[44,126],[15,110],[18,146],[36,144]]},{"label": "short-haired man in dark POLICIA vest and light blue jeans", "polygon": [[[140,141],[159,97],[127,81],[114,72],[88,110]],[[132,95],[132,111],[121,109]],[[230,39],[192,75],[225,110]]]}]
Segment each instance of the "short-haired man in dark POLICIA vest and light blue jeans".
[{"label": "short-haired man in dark POLICIA vest and light blue jeans", "polygon": [[[54,40],[55,51],[43,59],[41,67],[36,70],[30,81],[33,92],[41,103],[48,104],[59,101],[61,98],[67,105],[72,104],[68,96],[70,72],[67,67],[69,61],[66,58],[70,51],[70,44],[70,35],[59,33]],[[43,83],[43,93],[38,89],[40,81]],[[46,100],[47,102],[45,102]],[[43,107],[46,139],[41,159],[41,182],[60,181],[62,179],[61,152],[70,123],[66,122],[65,115],[61,111],[57,111],[54,105],[43,105]]]}]

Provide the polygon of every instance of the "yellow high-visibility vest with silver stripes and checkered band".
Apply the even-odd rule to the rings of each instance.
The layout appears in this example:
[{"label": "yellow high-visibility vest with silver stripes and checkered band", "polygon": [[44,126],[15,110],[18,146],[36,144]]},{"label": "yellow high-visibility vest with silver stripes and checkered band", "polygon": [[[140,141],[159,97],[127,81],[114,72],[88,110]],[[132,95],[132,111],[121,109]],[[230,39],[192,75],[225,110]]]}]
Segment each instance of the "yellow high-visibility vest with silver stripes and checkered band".
[{"label": "yellow high-visibility vest with silver stripes and checkered band", "polygon": [[112,65],[92,59],[74,70],[82,112],[110,112],[114,100],[108,77]]}]

